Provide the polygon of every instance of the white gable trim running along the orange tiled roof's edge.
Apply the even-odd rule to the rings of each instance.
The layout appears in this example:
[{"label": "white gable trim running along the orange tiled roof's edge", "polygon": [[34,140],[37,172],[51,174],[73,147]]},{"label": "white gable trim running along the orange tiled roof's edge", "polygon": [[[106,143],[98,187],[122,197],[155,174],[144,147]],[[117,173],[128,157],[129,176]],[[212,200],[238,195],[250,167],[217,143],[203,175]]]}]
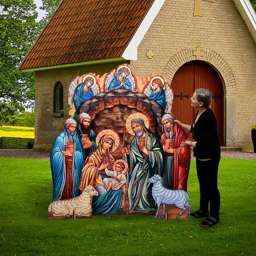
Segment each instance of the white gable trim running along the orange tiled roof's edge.
[{"label": "white gable trim running along the orange tiled roof's edge", "polygon": [[142,20],[139,28],[135,32],[130,43],[127,45],[126,49],[124,50],[124,52],[122,54],[122,57],[125,60],[137,60],[138,46],[139,46],[140,42],[142,41],[143,37],[146,35],[149,27],[151,26],[152,22],[156,18],[156,15],[160,11],[164,2],[165,2],[165,0],[156,0],[152,4],[148,13],[146,14],[145,18]]}]

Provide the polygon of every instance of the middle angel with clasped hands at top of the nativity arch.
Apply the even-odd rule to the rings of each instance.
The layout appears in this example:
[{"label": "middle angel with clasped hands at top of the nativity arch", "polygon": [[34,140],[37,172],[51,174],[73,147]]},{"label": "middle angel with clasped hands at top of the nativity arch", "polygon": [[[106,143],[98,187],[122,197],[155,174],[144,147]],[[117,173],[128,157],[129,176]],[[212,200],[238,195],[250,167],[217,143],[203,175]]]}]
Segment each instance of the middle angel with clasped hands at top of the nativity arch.
[{"label": "middle angel with clasped hands at top of the nativity arch", "polygon": [[129,65],[124,64],[113,69],[106,76],[105,79],[105,91],[106,90],[133,90],[135,88],[136,80],[132,74]]}]

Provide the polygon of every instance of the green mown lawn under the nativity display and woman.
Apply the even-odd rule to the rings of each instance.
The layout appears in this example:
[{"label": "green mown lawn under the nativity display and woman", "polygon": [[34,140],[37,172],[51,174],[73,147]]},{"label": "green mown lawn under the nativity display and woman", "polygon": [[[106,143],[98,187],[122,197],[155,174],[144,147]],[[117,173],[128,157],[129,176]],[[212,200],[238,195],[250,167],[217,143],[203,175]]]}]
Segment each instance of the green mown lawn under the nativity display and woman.
[{"label": "green mown lawn under the nativity display and woman", "polygon": [[[0,157],[1,255],[254,255],[256,160],[221,159],[220,220],[153,216],[47,219],[52,199],[50,161]],[[198,210],[191,161],[188,194]]]}]

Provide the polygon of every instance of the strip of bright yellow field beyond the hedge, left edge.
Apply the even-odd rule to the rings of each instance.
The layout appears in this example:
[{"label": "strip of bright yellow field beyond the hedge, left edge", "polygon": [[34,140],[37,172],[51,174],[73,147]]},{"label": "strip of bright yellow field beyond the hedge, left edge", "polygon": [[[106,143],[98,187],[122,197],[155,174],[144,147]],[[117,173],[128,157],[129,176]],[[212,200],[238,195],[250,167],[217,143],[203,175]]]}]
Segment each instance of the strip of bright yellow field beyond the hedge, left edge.
[{"label": "strip of bright yellow field beyond the hedge, left edge", "polygon": [[3,126],[0,126],[0,137],[35,139],[35,128],[3,125]]}]

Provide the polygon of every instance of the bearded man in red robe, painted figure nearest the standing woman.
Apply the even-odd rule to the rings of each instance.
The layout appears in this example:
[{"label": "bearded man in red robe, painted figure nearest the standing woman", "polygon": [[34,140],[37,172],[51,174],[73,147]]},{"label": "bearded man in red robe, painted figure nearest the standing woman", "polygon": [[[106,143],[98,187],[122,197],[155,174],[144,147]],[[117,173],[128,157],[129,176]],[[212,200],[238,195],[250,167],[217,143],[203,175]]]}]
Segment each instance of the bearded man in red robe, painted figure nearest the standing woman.
[{"label": "bearded man in red robe, painted figure nearest the standing woman", "polygon": [[183,142],[188,139],[188,134],[174,120],[173,114],[165,114],[162,117],[164,132],[161,144],[165,154],[163,186],[187,191],[190,147]]}]

